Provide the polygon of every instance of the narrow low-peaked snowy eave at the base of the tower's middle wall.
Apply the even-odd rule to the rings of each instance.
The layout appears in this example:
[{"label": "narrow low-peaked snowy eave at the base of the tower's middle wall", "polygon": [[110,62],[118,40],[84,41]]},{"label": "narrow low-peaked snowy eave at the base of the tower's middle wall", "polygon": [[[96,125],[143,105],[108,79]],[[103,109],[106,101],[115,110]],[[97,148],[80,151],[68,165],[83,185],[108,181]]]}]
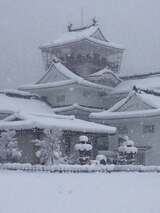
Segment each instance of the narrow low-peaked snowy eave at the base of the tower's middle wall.
[{"label": "narrow low-peaked snowy eave at the base of the tower's middle wall", "polygon": [[69,105],[69,106],[53,108],[53,111],[56,113],[56,112],[64,112],[64,111],[74,110],[74,109],[79,109],[79,110],[83,110],[83,111],[87,111],[87,112],[100,112],[100,111],[102,111],[101,109],[97,109],[97,108],[81,106],[77,103]]}]

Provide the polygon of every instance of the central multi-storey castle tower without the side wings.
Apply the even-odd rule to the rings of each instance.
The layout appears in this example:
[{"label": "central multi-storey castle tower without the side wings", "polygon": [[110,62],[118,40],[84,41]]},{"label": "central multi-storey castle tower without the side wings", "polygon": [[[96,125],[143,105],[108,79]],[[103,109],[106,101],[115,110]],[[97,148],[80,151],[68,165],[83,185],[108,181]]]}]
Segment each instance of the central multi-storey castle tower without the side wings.
[{"label": "central multi-storey castle tower without the side wings", "polygon": [[110,107],[106,98],[121,82],[124,49],[105,38],[98,24],[73,28],[40,47],[45,74],[20,89],[39,94],[58,114],[88,119],[91,112]]}]

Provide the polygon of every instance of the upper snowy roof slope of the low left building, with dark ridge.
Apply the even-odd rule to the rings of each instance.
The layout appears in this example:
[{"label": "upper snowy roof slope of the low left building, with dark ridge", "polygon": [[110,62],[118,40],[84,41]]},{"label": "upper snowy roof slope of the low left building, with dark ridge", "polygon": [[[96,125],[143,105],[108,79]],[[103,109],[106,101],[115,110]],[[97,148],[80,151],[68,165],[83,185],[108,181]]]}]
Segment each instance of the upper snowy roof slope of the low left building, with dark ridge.
[{"label": "upper snowy roof slope of the low left building, with dark ridge", "polygon": [[[10,91],[11,92],[11,91]],[[16,93],[0,93],[0,112],[39,112],[39,113],[52,113],[52,109],[45,102],[41,101],[35,96],[29,95],[29,93],[24,93],[19,91],[18,96]],[[19,96],[19,95],[23,96]],[[27,94],[27,96],[26,96]],[[25,96],[24,96],[25,95]],[[29,95],[29,97],[28,97]]]}]

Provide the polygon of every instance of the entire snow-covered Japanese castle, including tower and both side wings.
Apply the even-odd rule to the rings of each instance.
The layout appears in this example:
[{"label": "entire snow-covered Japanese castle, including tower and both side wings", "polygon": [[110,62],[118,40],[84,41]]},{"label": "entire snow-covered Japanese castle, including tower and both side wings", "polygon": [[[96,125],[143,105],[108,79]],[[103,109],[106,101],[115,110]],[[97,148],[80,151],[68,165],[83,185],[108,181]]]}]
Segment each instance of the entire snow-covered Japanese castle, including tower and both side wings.
[{"label": "entire snow-covered Japanese castle, including tower and both side wings", "polygon": [[160,73],[121,76],[124,48],[109,41],[95,19],[85,27],[69,25],[64,35],[40,49],[44,75],[19,92],[0,94],[5,103],[0,129],[15,129],[23,138],[29,153],[23,162],[37,162],[29,141],[40,138],[45,128],[58,127],[67,154],[85,133],[93,158],[99,153],[113,157],[128,135],[138,148],[137,164],[160,165]]}]

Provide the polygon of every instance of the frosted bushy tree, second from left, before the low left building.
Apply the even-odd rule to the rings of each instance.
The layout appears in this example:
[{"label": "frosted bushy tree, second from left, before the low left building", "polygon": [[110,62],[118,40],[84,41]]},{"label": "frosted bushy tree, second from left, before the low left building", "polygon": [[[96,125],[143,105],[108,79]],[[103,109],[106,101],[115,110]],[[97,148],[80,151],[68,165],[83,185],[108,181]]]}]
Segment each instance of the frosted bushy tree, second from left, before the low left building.
[{"label": "frosted bushy tree, second from left, before the low left building", "polygon": [[63,132],[59,128],[52,130],[45,129],[42,140],[36,139],[33,142],[38,147],[36,152],[40,163],[46,165],[58,164],[62,161],[61,143],[63,140]]}]

